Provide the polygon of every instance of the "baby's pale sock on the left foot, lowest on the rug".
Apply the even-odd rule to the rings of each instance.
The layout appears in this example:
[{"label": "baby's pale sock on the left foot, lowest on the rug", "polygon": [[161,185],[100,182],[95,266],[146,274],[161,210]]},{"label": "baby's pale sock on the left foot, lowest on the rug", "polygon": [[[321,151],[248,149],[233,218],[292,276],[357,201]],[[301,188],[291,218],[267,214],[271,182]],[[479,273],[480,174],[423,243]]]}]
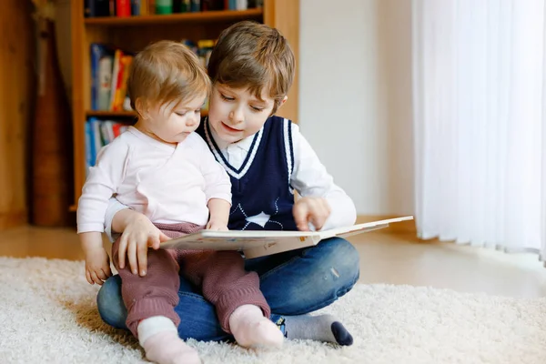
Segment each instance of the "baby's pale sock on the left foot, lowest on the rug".
[{"label": "baby's pale sock on the left foot, lowest on the rug", "polygon": [[153,316],[138,324],[138,342],[146,351],[146,358],[158,364],[201,364],[197,350],[178,337],[171,319]]}]

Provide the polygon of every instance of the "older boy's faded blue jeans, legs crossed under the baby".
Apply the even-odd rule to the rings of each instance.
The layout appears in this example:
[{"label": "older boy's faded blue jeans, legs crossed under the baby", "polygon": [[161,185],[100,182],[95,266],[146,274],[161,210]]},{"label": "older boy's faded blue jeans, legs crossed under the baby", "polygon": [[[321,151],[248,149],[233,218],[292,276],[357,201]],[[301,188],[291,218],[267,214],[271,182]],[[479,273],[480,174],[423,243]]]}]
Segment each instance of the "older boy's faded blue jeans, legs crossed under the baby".
[{"label": "older boy's faded blue jeans, legs crossed under the baby", "polygon": [[[347,240],[329,238],[315,247],[247,259],[245,268],[258,272],[271,319],[276,321],[279,315],[302,315],[327,307],[349,292],[359,279],[359,253]],[[180,277],[178,298],[175,310],[181,319],[180,338],[233,339],[220,328],[214,306],[184,277]],[[127,311],[119,276],[106,280],[98,291],[96,304],[108,325],[126,329]]]}]

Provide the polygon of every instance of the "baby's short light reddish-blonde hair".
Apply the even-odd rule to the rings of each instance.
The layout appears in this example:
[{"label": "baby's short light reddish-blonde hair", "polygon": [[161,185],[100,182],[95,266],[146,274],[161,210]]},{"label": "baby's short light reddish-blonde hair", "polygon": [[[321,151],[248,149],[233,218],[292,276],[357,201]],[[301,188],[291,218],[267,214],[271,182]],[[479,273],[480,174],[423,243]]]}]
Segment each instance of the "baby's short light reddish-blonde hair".
[{"label": "baby's short light reddish-blonde hair", "polygon": [[[170,109],[197,96],[207,96],[210,78],[197,56],[186,45],[162,40],[135,56],[127,79],[131,107],[153,105]],[[141,110],[136,110],[138,113]]]}]

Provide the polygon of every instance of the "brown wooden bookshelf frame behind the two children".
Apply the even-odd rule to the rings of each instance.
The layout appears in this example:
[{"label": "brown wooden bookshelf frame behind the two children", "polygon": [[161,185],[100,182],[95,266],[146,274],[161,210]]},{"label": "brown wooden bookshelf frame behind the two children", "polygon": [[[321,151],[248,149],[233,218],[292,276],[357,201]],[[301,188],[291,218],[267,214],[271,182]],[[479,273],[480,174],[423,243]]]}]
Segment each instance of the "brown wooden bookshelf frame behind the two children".
[{"label": "brown wooden bookshelf frame behind the two children", "polygon": [[[287,37],[298,60],[299,0],[264,0],[262,8],[244,11],[208,11],[173,15],[140,15],[131,17],[84,16],[84,0],[72,2],[72,113],[74,123],[74,205],[76,210],[86,180],[85,122],[87,117],[126,118],[133,112],[91,110],[91,76],[89,46],[92,43],[115,45],[129,52],[138,52],[161,39],[217,39],[227,26],[241,20],[254,20],[278,28]],[[298,68],[297,68],[298,72]],[[205,115],[205,113],[202,113]],[[279,116],[298,119],[298,74]]]}]

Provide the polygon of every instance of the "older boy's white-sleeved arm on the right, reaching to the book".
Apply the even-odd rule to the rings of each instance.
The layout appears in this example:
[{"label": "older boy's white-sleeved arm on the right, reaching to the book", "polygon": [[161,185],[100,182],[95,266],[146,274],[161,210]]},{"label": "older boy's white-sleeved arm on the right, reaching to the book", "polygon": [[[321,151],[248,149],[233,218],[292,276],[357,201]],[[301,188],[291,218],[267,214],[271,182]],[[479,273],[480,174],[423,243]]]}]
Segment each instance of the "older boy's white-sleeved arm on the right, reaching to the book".
[{"label": "older boy's white-sleeved arm on the right, reaching to the book", "polygon": [[[354,225],[357,212],[352,199],[345,191],[334,184],[326,167],[299,133],[297,125],[292,126],[292,145],[294,147],[294,169],[290,182],[301,197],[319,197],[329,208],[329,217],[321,230]],[[320,199],[312,203],[319,205]]]}]

